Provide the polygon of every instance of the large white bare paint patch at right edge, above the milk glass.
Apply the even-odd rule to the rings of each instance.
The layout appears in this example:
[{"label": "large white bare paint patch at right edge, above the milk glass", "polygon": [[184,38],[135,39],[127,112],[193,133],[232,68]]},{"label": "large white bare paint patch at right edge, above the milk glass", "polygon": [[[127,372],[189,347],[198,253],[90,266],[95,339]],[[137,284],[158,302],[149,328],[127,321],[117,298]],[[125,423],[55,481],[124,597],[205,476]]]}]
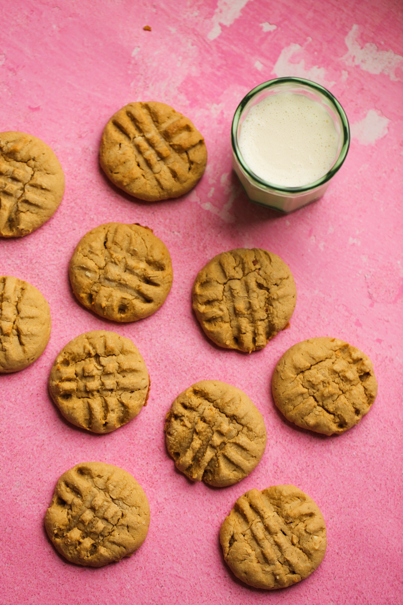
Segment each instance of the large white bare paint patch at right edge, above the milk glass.
[{"label": "large white bare paint patch at right edge, above the milk glass", "polygon": [[341,59],[346,65],[358,65],[362,70],[369,71],[370,74],[384,73],[391,80],[398,81],[395,70],[401,66],[403,57],[392,50],[379,50],[373,42],[361,46],[358,36],[359,29],[355,24],[345,38],[349,50]]}]

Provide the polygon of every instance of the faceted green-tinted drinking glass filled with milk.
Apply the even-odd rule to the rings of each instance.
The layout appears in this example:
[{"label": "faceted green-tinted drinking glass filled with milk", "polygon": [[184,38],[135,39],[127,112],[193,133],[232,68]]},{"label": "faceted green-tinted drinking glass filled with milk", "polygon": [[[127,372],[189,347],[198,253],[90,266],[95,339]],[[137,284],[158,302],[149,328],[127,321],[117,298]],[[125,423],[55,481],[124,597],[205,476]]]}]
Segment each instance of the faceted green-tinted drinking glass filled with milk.
[{"label": "faceted green-tinted drinking glass filled with milk", "polygon": [[326,88],[283,77],[242,99],[231,140],[233,168],[250,200],[292,212],[324,194],[346,158],[350,129]]}]

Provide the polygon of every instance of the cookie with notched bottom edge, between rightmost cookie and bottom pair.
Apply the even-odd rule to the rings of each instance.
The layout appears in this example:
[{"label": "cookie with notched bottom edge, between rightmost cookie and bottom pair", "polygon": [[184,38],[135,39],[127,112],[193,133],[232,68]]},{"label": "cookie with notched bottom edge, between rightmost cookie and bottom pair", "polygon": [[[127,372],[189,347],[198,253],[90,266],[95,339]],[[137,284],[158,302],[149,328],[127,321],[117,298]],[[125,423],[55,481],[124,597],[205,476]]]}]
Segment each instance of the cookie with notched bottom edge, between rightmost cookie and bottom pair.
[{"label": "cookie with notched bottom edge, between rightmost cookie and bottom pair", "polygon": [[196,382],[176,397],[165,433],[176,468],[216,487],[246,477],[266,447],[263,416],[249,397],[213,380]]}]

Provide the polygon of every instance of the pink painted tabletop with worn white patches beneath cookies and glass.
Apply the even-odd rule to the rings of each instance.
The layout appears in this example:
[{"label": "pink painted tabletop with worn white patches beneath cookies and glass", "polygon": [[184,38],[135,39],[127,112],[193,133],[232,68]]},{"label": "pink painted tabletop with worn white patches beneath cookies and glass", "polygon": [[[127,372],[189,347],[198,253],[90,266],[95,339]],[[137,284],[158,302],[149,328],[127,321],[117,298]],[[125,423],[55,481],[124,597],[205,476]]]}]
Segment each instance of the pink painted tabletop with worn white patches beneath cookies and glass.
[{"label": "pink painted tabletop with worn white patches beneath cookies and glass", "polygon": [[[66,175],[59,210],[41,229],[0,241],[0,271],[30,281],[50,302],[40,359],[0,376],[0,601],[7,604],[401,603],[403,307],[402,13],[393,0],[145,0],[4,3],[0,8],[1,125],[51,145]],[[152,31],[143,31],[150,25]],[[230,168],[230,123],[248,90],[271,77],[317,80],[340,100],[352,143],[317,203],[282,216],[251,204]],[[133,100],[159,100],[205,136],[208,165],[189,195],[140,203],[98,168],[103,126]],[[86,231],[107,221],[152,227],[169,247],[174,281],[148,319],[118,325],[74,299],[68,261]],[[263,247],[291,267],[298,301],[291,329],[242,355],[208,341],[192,313],[198,270],[216,253]],[[47,392],[51,365],[71,338],[111,329],[132,338],[152,379],[149,405],[106,436],[60,417]],[[372,410],[340,437],[298,430],[277,413],[272,370],[311,336],[346,339],[373,360]],[[175,396],[200,379],[242,388],[262,412],[268,444],[231,488],[193,485],[175,471],[163,424]],[[149,498],[137,554],[101,569],[67,563],[43,518],[60,474],[77,462],[121,466]],[[296,586],[266,593],[225,565],[219,526],[250,488],[294,483],[326,520],[323,563]]]}]

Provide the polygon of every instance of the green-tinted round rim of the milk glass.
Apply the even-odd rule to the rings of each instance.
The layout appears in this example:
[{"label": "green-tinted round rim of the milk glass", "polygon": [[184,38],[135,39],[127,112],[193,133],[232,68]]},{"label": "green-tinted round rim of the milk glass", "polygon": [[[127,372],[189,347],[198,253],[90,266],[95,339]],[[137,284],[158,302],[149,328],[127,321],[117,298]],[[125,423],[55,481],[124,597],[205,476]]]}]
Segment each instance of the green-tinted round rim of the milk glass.
[{"label": "green-tinted round rim of the milk glass", "polygon": [[[340,134],[343,135],[343,145],[341,146],[340,153],[338,154],[336,162],[334,163],[332,168],[330,168],[330,170],[328,172],[326,172],[326,174],[323,175],[323,177],[318,178],[318,180],[314,181],[313,183],[309,183],[308,185],[303,185],[301,187],[282,187],[281,185],[276,185],[275,183],[270,183],[269,181],[265,181],[262,178],[258,177],[256,174],[254,174],[254,172],[251,171],[251,169],[243,161],[242,155],[239,151],[238,144],[237,144],[237,128],[238,128],[238,124],[239,124],[240,115],[242,114],[242,111],[244,110],[245,106],[250,102],[251,99],[253,99],[254,96],[256,96],[256,94],[262,92],[266,88],[271,88],[278,84],[285,84],[285,83],[292,83],[295,85],[303,84],[306,87],[312,88],[314,91],[323,94],[323,96],[327,97],[327,99],[332,103],[332,105],[334,106],[338,115],[340,116],[340,120],[341,120],[342,128],[341,128]],[[347,120],[346,113],[343,110],[343,107],[338,102],[338,100],[332,95],[332,93],[330,93],[326,88],[324,88],[320,84],[317,84],[316,82],[312,82],[311,80],[305,80],[305,79],[299,78],[299,77],[274,78],[272,80],[268,80],[267,82],[262,82],[262,84],[259,84],[258,86],[253,88],[245,97],[243,97],[242,101],[237,106],[236,111],[234,113],[232,126],[231,126],[231,145],[233,148],[234,155],[235,155],[237,161],[239,162],[240,167],[242,168],[243,172],[245,172],[245,174],[249,178],[251,178],[251,180],[255,181],[255,183],[257,183],[258,185],[263,186],[265,188],[268,187],[270,189],[273,189],[274,191],[281,191],[281,192],[286,192],[286,193],[302,193],[305,191],[311,191],[311,189],[315,189],[317,187],[320,187],[324,183],[327,183],[327,181],[329,181],[330,178],[332,178],[336,174],[336,172],[338,171],[340,166],[343,164],[344,160],[346,159],[347,151],[349,151],[349,146],[350,146],[349,120]]]}]

